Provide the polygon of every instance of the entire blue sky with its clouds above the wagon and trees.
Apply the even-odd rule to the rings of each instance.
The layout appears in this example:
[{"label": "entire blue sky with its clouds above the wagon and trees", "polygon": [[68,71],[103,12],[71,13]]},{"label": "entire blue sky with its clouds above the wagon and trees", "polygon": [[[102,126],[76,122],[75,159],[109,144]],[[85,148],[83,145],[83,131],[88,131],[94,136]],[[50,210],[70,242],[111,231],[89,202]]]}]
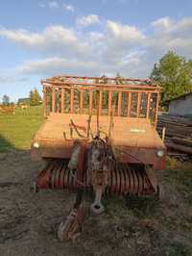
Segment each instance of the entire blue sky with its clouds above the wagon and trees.
[{"label": "entire blue sky with its clouds above the wagon and trees", "polygon": [[192,59],[192,0],[0,0],[0,100],[60,74],[148,78],[169,50]]}]

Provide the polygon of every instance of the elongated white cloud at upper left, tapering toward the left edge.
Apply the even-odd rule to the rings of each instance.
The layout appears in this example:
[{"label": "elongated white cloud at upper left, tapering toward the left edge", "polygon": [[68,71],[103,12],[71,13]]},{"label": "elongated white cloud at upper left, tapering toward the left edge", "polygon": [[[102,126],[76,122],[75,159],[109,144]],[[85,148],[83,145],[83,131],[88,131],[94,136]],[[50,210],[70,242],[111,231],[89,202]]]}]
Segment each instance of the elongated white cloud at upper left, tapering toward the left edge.
[{"label": "elongated white cloud at upper left, tapering toward the left edge", "polygon": [[18,43],[22,48],[45,55],[84,56],[84,49],[87,47],[86,42],[78,38],[73,29],[63,26],[49,26],[41,33],[3,28],[0,29],[0,36]]}]

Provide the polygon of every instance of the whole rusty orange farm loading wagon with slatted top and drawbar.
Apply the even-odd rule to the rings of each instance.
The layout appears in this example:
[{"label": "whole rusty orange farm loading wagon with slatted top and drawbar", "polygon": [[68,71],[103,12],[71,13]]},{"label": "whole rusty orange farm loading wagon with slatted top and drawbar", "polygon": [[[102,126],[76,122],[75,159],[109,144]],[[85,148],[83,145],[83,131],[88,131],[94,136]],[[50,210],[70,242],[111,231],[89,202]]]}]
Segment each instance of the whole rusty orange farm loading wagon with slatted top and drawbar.
[{"label": "whole rusty orange farm loading wagon with slatted top and drawbar", "polygon": [[46,120],[31,152],[33,159],[49,162],[36,189],[77,192],[75,210],[60,224],[61,240],[80,230],[84,190],[95,192],[95,214],[104,211],[106,192],[158,192],[155,170],[165,167],[166,148],[156,132],[157,86],[148,80],[76,76],[53,77],[42,85]]}]

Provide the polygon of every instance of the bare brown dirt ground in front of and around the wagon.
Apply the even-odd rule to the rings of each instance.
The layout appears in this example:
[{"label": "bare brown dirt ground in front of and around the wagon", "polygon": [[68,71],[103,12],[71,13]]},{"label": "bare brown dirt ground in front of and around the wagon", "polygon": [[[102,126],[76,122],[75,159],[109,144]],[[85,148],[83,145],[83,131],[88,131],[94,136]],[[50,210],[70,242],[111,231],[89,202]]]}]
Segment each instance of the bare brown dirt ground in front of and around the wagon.
[{"label": "bare brown dirt ground in front of and around the wagon", "polygon": [[60,243],[57,229],[74,195],[30,191],[41,163],[29,151],[0,154],[0,255],[192,255],[192,207],[158,173],[162,201],[109,198],[106,213],[84,221],[77,242]]}]

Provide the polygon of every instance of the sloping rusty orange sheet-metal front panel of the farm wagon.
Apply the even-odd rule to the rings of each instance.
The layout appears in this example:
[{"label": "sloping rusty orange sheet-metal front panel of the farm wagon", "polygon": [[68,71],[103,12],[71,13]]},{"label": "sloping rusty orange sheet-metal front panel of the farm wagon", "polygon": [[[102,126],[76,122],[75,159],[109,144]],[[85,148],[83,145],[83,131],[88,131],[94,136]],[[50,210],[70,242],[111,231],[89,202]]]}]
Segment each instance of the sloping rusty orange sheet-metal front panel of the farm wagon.
[{"label": "sloping rusty orange sheet-metal front panel of the farm wagon", "polygon": [[[100,116],[100,129],[103,138],[108,134],[109,116]],[[75,140],[84,140],[74,132],[73,138],[70,138],[70,119],[78,127],[87,127],[88,115],[75,114],[52,114],[36,133],[32,141],[33,152],[38,152],[41,157],[69,158],[71,155],[73,142]],[[157,158],[156,150],[166,150],[163,142],[160,140],[156,129],[150,121],[144,118],[131,117],[113,117],[114,127],[111,131],[112,146],[122,148],[129,154],[115,152],[116,157],[123,162],[138,163],[137,159],[145,164],[152,164],[156,168],[162,168],[165,158]],[[96,116],[91,118],[91,131],[96,135]],[[64,138],[63,132],[67,138]],[[86,136],[86,130],[84,136]],[[39,148],[34,148],[33,143],[38,141]],[[133,157],[132,157],[133,156]]]}]

